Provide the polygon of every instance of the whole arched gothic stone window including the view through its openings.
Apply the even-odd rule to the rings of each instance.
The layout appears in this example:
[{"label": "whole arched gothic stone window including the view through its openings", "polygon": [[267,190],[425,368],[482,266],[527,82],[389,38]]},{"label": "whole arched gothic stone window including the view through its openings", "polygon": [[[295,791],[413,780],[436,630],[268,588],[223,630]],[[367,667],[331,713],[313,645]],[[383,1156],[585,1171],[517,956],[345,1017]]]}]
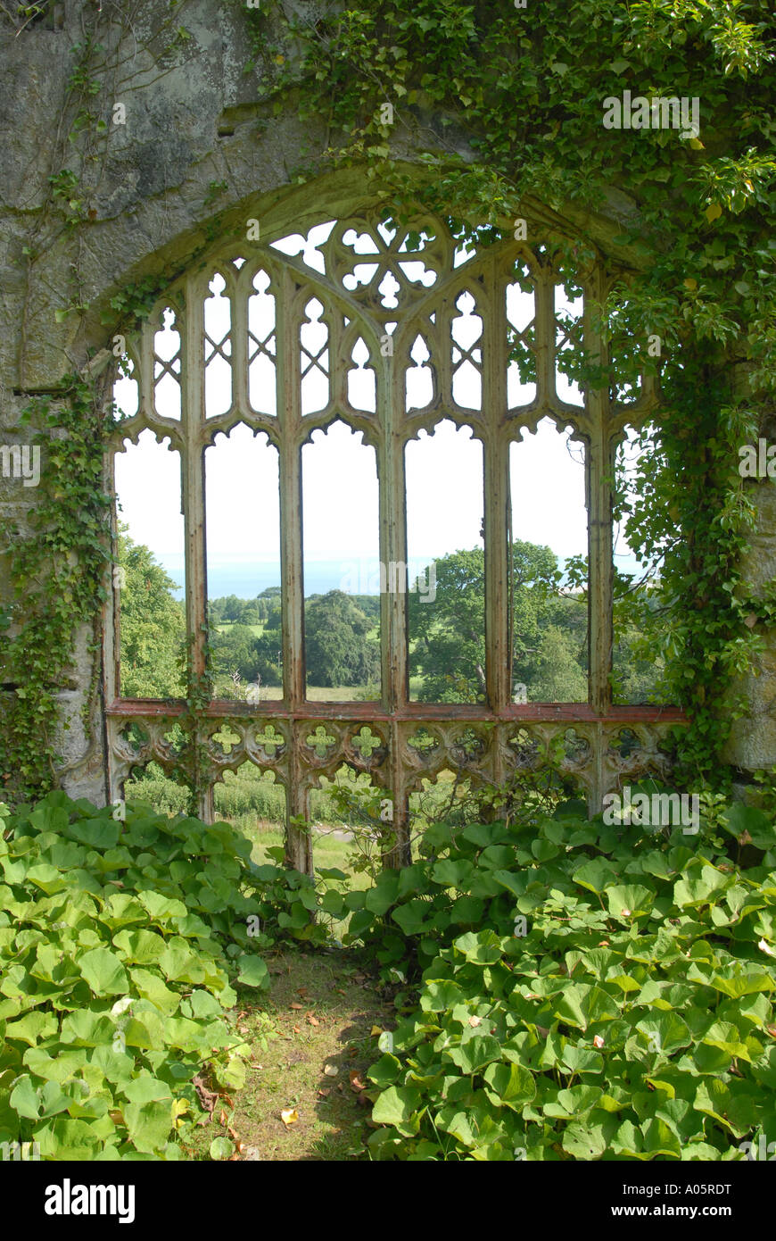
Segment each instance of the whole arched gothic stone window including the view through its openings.
[{"label": "whole arched gothic stone window including the view through its openings", "polygon": [[[364,216],[233,242],[167,289],[117,375],[115,482],[123,503],[120,462],[144,441],[180,464],[188,685],[126,692],[143,679],[124,669],[119,582],[114,795],[138,766],[179,763],[169,736],[176,719],[191,727],[185,699],[200,813],[250,762],[304,815],[346,763],[390,802],[389,864],[408,859],[410,794],[445,764],[500,782],[570,722],[579,743],[565,762],[593,803],[625,762],[625,722],[628,772],[658,762],[678,712],[615,706],[611,689],[612,465],[655,397],[647,383],[622,400],[583,391],[571,365],[583,347],[602,355],[589,311],[601,280],[570,277],[545,244],[464,248],[441,220]],[[169,474],[149,475],[149,509],[177,504]],[[126,511],[138,495],[130,486]],[[311,601],[327,541],[347,540],[333,599]],[[243,558],[244,598],[276,583],[249,684],[216,675],[208,650],[208,598],[229,556]],[[343,668],[361,660],[368,681],[343,700],[314,694],[311,671],[326,608],[347,613],[348,596],[374,607],[371,654],[356,624],[335,653]],[[537,654],[538,625],[569,642]],[[310,849],[291,824],[290,860],[310,867]]]}]

